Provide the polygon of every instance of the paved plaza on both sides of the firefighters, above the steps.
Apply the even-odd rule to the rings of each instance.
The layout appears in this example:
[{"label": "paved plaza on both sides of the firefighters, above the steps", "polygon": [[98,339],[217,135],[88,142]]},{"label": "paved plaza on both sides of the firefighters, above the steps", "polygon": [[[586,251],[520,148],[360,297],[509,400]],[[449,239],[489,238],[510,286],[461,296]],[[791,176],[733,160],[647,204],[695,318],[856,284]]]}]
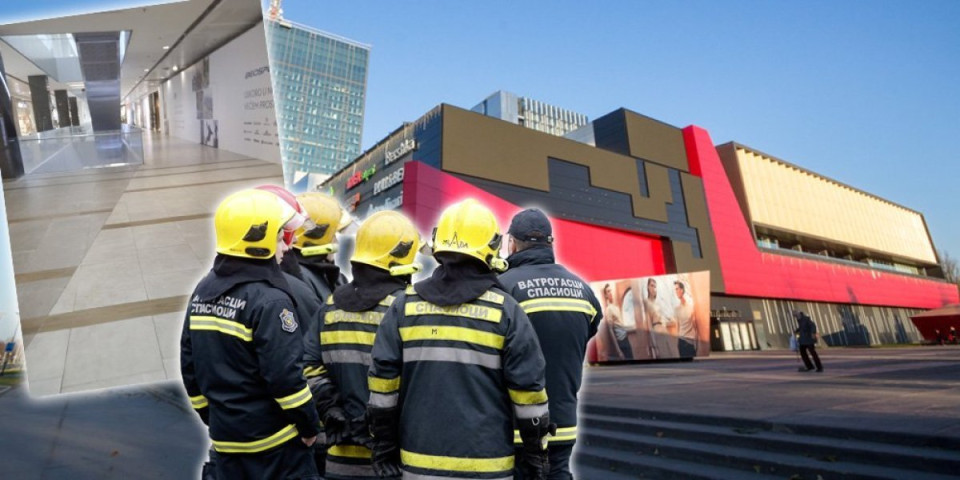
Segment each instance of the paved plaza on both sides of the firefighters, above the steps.
[{"label": "paved plaza on both sides of the firefighters, above the steps", "polygon": [[[821,356],[822,374],[797,372],[783,351],[591,367],[583,397],[590,405],[960,443],[960,347],[833,348]],[[206,448],[203,425],[174,381],[41,400],[22,388],[0,396],[5,478],[195,478]]]}]

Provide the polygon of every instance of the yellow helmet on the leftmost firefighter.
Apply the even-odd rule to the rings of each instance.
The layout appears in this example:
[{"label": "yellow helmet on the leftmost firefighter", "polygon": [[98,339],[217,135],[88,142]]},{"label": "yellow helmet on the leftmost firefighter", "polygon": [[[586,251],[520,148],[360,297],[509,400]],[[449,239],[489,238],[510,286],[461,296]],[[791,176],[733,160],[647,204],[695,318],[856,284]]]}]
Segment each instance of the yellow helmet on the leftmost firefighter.
[{"label": "yellow helmet on the leftmost firefighter", "polygon": [[213,217],[217,253],[272,258],[280,230],[296,212],[264,190],[242,190],[220,202]]}]

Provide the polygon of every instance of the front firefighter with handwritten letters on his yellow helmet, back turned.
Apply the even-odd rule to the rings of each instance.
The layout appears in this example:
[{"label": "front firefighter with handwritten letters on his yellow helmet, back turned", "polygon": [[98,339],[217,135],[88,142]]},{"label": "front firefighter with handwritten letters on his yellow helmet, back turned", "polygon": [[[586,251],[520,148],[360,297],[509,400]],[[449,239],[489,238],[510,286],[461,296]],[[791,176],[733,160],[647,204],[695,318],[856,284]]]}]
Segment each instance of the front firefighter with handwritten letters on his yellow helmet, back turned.
[{"label": "front firefighter with handwritten letters on his yellow helmet, back turned", "polygon": [[[373,467],[411,478],[506,478],[546,472],[551,430],[536,333],[494,270],[501,235],[493,213],[468,199],[434,230],[432,276],[387,310],[373,345],[367,413]],[[401,467],[402,465],[402,467]]]}]

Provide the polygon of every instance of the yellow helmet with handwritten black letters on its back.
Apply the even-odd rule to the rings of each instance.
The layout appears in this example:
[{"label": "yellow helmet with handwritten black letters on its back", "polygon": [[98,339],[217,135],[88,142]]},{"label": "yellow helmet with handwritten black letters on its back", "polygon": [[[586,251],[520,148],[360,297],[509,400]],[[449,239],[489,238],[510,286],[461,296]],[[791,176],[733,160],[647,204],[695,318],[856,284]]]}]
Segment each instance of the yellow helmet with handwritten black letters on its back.
[{"label": "yellow helmet with handwritten black letters on its back", "polygon": [[502,240],[493,212],[468,198],[447,207],[440,215],[439,225],[433,231],[433,253],[462,253],[493,270],[503,271],[507,262],[497,256]]}]

